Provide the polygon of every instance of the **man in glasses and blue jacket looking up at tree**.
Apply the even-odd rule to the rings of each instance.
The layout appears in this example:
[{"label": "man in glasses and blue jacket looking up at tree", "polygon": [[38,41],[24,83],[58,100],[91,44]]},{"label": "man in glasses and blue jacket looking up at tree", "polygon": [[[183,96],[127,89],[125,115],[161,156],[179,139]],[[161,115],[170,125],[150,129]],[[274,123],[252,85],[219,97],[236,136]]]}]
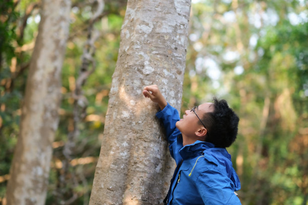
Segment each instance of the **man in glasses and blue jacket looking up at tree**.
[{"label": "man in glasses and blue jacket looking up at tree", "polygon": [[240,180],[225,149],[237,137],[239,118],[226,101],[214,98],[180,119],[157,85],[142,93],[161,109],[156,116],[163,121],[177,164],[165,204],[241,204],[235,193]]}]

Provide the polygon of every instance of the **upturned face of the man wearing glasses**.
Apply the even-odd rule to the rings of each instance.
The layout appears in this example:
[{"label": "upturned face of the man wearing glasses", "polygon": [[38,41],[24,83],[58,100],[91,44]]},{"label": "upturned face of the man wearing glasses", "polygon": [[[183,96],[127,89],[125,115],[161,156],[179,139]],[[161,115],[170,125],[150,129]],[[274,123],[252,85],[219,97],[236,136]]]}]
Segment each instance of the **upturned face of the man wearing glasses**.
[{"label": "upturned face of the man wearing glasses", "polygon": [[[202,119],[203,115],[208,112],[213,112],[214,107],[211,102],[206,102],[201,104],[195,109],[195,113],[191,110],[185,111],[185,115],[183,115],[183,119],[176,123],[176,127],[181,131],[183,136],[183,144],[185,140],[189,141],[189,143],[194,143],[197,140],[200,140],[197,132],[204,129],[203,125],[200,125],[199,119]],[[198,117],[197,117],[197,116]],[[185,146],[185,145],[184,145]]]}]

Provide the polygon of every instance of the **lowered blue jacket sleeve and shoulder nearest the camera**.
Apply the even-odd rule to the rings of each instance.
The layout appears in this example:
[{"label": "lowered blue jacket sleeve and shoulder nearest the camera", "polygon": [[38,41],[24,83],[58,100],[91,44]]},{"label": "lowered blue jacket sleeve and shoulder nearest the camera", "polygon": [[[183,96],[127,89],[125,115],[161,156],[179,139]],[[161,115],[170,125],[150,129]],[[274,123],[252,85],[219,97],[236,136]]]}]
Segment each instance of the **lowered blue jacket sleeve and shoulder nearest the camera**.
[{"label": "lowered blue jacket sleeve and shoulder nearest the camera", "polygon": [[241,201],[234,193],[233,182],[215,169],[203,171],[196,180],[197,189],[204,204],[240,205]]}]

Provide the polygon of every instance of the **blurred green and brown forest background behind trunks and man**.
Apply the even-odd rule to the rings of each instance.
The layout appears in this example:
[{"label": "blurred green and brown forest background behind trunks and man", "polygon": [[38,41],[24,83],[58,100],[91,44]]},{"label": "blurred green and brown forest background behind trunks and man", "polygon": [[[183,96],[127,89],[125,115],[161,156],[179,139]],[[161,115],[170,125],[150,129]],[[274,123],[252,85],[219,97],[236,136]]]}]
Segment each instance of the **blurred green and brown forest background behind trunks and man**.
[{"label": "blurred green and brown forest background behind trunks and man", "polygon": [[[97,2],[72,1],[46,204],[89,202],[127,2],[104,3],[92,28],[99,36],[96,66],[82,87],[88,105],[75,122],[73,92]],[[40,5],[0,3],[0,201],[19,135]],[[308,204],[307,8],[305,0],[192,1],[181,112],[218,96],[238,113],[238,139],[227,150],[243,204]],[[80,133],[68,137],[76,123]],[[74,149],[67,167],[68,143]]]}]

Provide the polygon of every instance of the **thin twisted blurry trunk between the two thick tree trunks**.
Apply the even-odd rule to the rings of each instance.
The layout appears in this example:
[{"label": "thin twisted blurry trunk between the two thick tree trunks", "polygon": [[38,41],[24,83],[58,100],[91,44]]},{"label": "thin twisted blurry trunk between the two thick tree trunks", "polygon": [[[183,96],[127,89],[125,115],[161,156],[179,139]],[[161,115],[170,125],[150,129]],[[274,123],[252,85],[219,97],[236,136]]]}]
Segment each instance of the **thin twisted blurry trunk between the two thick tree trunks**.
[{"label": "thin twisted blurry trunk between the two thick tree trunks", "polygon": [[[56,191],[56,196],[61,204],[73,204],[73,202],[78,199],[78,194],[74,191],[74,189],[76,189],[76,187],[81,183],[83,183],[83,186],[87,186],[87,180],[82,180],[85,179],[83,168],[72,168],[71,160],[79,152],[79,149],[83,149],[84,147],[83,145],[76,146],[76,142],[80,136],[79,125],[87,116],[86,110],[89,104],[87,97],[84,95],[83,85],[96,69],[96,61],[94,59],[96,52],[95,43],[101,33],[95,29],[94,24],[101,19],[105,3],[103,0],[93,1],[91,7],[93,10],[96,9],[96,12],[93,14],[88,23],[88,32],[86,34],[87,40],[83,49],[81,68],[79,70],[78,78],[76,78],[74,90],[72,90],[74,99],[72,112],[73,129],[68,133],[67,141],[64,144],[64,157],[61,161],[62,170],[60,171],[60,180]],[[73,184],[73,186],[67,188],[67,184]],[[86,203],[89,203],[89,191],[84,194],[84,204]]]}]

